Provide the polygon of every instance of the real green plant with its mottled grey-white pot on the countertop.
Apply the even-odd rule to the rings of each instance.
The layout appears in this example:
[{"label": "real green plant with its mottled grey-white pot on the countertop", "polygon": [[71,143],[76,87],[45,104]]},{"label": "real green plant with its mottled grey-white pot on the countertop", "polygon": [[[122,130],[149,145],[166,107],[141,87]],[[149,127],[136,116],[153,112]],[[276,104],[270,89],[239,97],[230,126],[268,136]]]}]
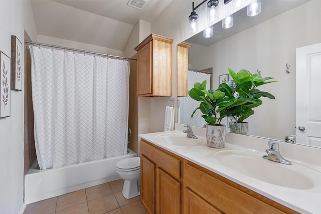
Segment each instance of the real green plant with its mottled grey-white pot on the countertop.
[{"label": "real green plant with its mottled grey-white pot on the countertop", "polygon": [[202,117],[208,123],[206,126],[207,145],[212,148],[224,148],[226,126],[221,125],[222,119],[226,116],[229,106],[232,106],[237,100],[229,87],[218,88],[217,90],[206,90],[207,81],[195,83],[194,88],[189,91],[189,96],[200,101],[199,109],[204,115]]}]

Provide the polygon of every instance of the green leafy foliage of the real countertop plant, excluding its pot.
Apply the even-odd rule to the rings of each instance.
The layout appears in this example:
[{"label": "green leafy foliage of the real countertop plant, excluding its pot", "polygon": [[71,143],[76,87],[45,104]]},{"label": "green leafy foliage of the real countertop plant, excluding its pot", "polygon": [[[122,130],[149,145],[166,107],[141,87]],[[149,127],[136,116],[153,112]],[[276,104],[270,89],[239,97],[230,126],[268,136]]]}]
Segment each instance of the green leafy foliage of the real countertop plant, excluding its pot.
[{"label": "green leafy foliage of the real countertop plant, excluding its pot", "polygon": [[206,90],[207,81],[202,83],[195,83],[194,88],[189,91],[189,96],[200,101],[200,106],[194,110],[195,112],[200,109],[204,114],[202,117],[208,124],[219,125],[221,120],[226,116],[226,111],[229,106],[232,106],[236,102],[236,98],[233,96],[232,90],[226,85],[224,88],[218,88],[217,90]]}]

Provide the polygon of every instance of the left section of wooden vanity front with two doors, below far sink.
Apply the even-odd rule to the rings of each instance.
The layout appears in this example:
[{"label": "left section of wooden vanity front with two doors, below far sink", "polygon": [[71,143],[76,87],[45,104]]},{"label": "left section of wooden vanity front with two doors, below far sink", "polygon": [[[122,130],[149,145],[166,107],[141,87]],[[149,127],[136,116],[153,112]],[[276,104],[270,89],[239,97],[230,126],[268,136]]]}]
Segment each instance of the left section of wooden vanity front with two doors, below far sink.
[{"label": "left section of wooden vanity front with two doors, below far sink", "polygon": [[181,157],[141,140],[140,201],[146,213],[182,213],[181,165]]}]

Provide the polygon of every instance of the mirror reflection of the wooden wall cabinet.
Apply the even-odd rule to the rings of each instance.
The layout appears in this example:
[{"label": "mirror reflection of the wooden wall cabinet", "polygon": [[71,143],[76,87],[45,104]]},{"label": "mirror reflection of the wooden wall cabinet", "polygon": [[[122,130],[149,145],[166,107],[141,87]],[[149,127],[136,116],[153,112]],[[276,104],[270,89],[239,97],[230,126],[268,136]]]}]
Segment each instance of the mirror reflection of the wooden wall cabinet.
[{"label": "mirror reflection of the wooden wall cabinet", "polygon": [[180,43],[177,45],[177,96],[187,97],[189,52],[192,45]]}]

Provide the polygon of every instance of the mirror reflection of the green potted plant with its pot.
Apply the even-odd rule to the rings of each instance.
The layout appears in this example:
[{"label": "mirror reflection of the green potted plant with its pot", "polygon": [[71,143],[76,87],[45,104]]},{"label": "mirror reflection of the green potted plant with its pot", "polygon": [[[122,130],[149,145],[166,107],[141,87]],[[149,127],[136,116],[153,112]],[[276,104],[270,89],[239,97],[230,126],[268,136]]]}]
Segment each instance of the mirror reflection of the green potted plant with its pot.
[{"label": "mirror reflection of the green potted plant with its pot", "polygon": [[244,122],[244,120],[254,114],[253,108],[262,105],[260,97],[275,99],[272,94],[260,91],[257,87],[276,81],[268,81],[274,78],[263,78],[259,74],[252,74],[244,69],[238,73],[235,73],[230,68],[228,68],[228,70],[233,80],[230,80],[225,87],[228,86],[230,88],[237,100],[246,100],[247,102],[241,105],[231,106],[226,110],[225,114],[227,116],[233,116],[236,120],[236,122],[230,124],[231,132],[247,135],[248,123]]}]

